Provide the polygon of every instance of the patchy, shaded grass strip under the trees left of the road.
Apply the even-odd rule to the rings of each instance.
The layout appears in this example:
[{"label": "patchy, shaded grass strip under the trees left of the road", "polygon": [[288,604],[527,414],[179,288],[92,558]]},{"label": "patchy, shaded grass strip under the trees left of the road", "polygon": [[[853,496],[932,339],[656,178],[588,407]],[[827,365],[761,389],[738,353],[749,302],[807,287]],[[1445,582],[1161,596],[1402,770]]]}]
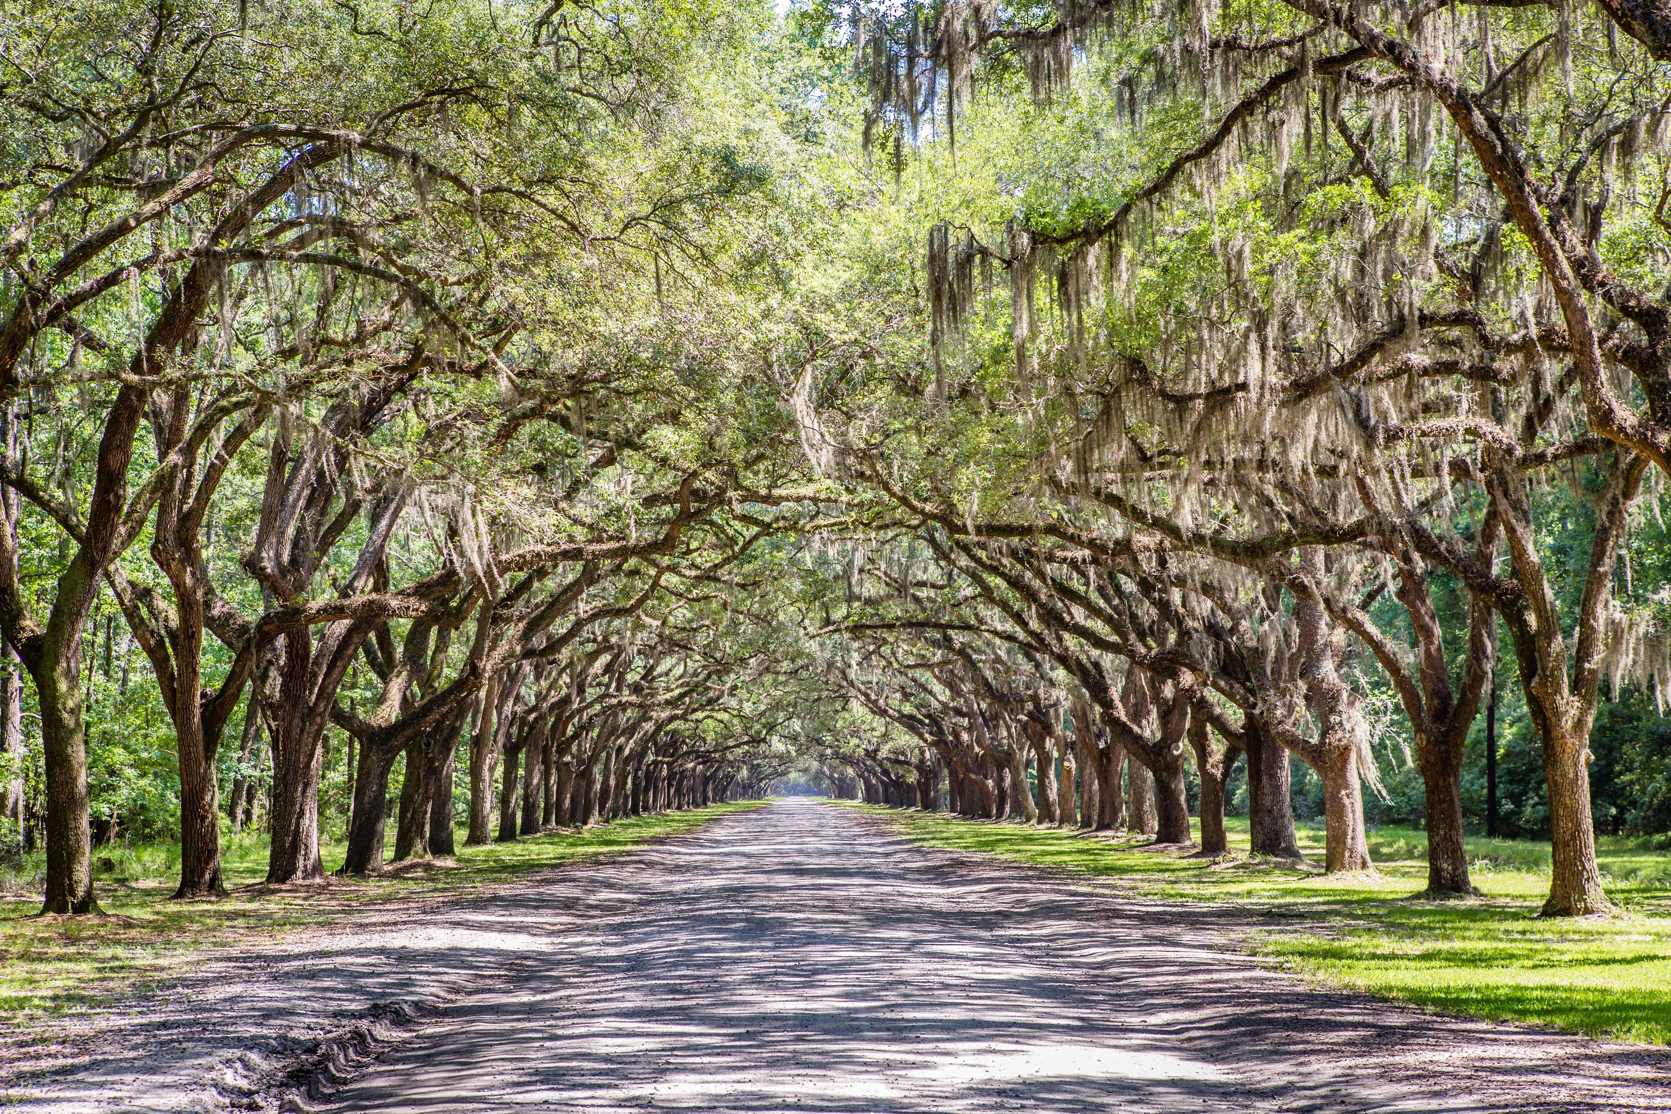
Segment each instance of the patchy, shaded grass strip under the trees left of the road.
[{"label": "patchy, shaded grass strip under the trees left of the road", "polygon": [[[630,817],[608,827],[486,847],[465,847],[460,830],[456,858],[418,862],[374,879],[272,889],[261,885],[266,837],[236,837],[222,860],[229,895],[221,900],[170,900],[179,880],[179,847],[99,848],[95,863],[110,863],[97,872],[107,917],[33,917],[38,895],[0,894],[0,1029],[32,1015],[94,1005],[164,979],[197,949],[324,927],[423,900],[486,894],[535,870],[627,852],[760,803]],[[341,845],[323,850],[328,870],[341,865]]]}]

